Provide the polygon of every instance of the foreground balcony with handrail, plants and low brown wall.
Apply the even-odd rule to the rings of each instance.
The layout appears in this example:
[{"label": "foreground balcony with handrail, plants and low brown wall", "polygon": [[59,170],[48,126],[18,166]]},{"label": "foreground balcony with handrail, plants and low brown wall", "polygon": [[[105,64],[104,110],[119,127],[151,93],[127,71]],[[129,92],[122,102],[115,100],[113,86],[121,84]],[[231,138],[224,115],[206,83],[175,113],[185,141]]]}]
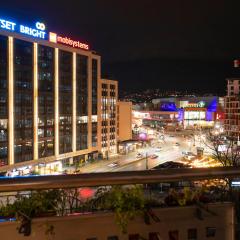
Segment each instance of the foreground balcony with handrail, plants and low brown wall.
[{"label": "foreground balcony with handrail, plants and low brown wall", "polygon": [[[240,168],[222,167],[3,178],[0,234],[5,239],[189,239],[191,234],[234,239],[234,205],[218,186],[239,175]],[[214,186],[199,185],[211,179]]]}]

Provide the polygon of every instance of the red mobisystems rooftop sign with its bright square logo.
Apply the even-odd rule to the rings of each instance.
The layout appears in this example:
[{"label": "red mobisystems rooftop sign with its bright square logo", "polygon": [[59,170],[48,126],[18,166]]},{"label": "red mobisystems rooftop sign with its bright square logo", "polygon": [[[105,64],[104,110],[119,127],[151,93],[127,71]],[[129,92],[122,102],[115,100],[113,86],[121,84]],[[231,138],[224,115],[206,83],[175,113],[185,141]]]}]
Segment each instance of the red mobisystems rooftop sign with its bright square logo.
[{"label": "red mobisystems rooftop sign with its bright square logo", "polygon": [[71,46],[73,48],[81,48],[81,49],[84,49],[84,50],[89,50],[89,45],[86,44],[86,43],[82,43],[82,42],[79,42],[79,41],[72,40],[69,37],[62,37],[62,36],[59,36],[56,33],[52,33],[52,32],[49,33],[49,41],[54,42],[54,43],[66,44],[66,45]]}]

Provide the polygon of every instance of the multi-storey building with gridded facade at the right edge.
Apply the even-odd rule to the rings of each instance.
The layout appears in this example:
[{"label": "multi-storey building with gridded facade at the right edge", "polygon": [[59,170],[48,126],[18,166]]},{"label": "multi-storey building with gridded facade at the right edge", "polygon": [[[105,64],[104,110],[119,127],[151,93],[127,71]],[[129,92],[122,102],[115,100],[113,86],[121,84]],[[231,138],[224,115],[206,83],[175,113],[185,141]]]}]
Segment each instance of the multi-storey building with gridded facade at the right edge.
[{"label": "multi-storey building with gridded facade at the right edge", "polygon": [[240,79],[227,79],[224,128],[228,136],[238,138],[240,131]]}]

